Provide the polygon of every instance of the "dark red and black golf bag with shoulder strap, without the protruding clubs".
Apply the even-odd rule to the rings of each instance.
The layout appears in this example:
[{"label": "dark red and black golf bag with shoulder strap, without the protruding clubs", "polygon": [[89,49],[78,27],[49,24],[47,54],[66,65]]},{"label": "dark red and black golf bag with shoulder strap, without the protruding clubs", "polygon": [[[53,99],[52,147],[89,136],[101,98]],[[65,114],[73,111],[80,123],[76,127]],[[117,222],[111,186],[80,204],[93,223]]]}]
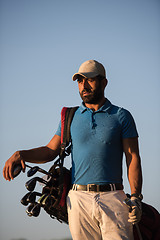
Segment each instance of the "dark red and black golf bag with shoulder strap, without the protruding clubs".
[{"label": "dark red and black golf bag with shoulder strap, without the protruding clubs", "polygon": [[42,207],[60,222],[68,223],[66,197],[71,187],[71,171],[63,167],[64,158],[70,154],[70,125],[78,107],[61,111],[61,151],[59,159],[50,168],[53,175],[42,190]]}]

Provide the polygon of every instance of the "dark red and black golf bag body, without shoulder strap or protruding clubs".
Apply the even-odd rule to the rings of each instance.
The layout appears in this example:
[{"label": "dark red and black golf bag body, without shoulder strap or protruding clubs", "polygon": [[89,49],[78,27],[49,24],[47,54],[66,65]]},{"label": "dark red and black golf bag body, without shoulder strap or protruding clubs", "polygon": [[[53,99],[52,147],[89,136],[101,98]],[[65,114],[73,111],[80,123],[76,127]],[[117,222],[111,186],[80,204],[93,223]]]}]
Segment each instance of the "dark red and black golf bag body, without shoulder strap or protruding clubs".
[{"label": "dark red and black golf bag body, without shoulder strap or protruding clubs", "polygon": [[43,187],[40,204],[51,218],[68,223],[66,197],[71,185],[70,170],[52,166],[49,172],[53,177]]}]

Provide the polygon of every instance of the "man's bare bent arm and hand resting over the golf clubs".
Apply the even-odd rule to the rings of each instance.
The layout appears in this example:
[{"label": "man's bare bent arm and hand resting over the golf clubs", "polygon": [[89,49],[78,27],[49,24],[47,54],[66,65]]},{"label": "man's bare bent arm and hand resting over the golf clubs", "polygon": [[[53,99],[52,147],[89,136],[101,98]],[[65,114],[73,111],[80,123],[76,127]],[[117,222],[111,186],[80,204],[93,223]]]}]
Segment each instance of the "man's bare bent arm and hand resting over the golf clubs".
[{"label": "man's bare bent arm and hand resting over the golf clubs", "polygon": [[46,163],[55,159],[60,152],[61,138],[54,135],[51,141],[44,147],[30,150],[16,151],[5,163],[3,176],[6,180],[13,180],[13,168],[16,164],[21,164],[25,171],[25,162]]}]

